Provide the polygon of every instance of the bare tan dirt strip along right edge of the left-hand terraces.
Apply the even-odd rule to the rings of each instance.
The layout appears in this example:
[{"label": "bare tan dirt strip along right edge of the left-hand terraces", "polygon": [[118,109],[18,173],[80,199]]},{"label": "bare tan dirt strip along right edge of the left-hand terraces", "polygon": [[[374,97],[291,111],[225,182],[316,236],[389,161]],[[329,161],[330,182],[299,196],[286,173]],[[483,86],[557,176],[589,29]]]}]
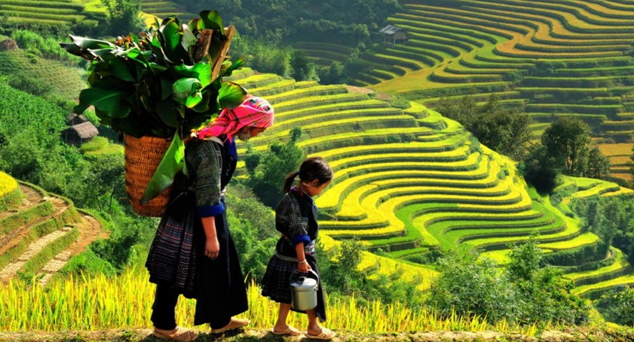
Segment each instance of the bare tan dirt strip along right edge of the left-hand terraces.
[{"label": "bare tan dirt strip along right edge of the left-hand terraces", "polygon": [[[91,242],[105,239],[109,233],[103,230],[99,220],[89,215],[82,215],[82,222],[79,224],[79,237],[67,249],[55,255],[55,258],[47,262],[40,275],[40,284],[46,285],[57,271],[61,270],[74,255],[85,251]],[[1,276],[0,276],[1,278]]]}]

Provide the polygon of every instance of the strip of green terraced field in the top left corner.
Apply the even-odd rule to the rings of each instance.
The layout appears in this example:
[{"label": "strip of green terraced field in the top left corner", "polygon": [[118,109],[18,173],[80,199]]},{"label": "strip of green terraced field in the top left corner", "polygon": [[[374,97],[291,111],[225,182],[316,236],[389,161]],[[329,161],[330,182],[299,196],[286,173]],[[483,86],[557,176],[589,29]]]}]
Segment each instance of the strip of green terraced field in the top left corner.
[{"label": "strip of green terraced field in the top left corner", "polygon": [[97,25],[106,19],[100,1],[82,0],[0,0],[0,16],[8,23],[27,25]]}]

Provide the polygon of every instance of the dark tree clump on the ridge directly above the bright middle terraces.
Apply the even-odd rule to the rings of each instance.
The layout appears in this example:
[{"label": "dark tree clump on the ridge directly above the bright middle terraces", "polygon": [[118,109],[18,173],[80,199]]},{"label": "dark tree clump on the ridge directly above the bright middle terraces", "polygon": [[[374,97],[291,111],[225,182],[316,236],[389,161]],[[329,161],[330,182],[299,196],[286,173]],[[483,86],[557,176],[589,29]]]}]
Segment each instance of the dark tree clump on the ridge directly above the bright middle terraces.
[{"label": "dark tree clump on the ridge directly above the bright middle terraces", "polygon": [[525,146],[532,138],[529,115],[523,109],[504,107],[496,95],[481,106],[468,96],[459,100],[444,98],[437,111],[463,124],[488,148],[517,160],[524,156]]}]

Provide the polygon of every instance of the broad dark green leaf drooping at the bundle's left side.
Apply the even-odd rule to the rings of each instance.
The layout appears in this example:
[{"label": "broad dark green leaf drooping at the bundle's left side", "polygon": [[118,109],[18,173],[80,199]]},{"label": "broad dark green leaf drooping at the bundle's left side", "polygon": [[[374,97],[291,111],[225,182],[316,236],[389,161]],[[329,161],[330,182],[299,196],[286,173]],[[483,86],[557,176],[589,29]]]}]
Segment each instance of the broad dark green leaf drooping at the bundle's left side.
[{"label": "broad dark green leaf drooping at the bundle's left side", "polygon": [[75,113],[83,113],[89,106],[95,106],[107,117],[126,117],[130,113],[130,104],[126,101],[129,92],[120,89],[88,88],[79,94],[79,104]]}]

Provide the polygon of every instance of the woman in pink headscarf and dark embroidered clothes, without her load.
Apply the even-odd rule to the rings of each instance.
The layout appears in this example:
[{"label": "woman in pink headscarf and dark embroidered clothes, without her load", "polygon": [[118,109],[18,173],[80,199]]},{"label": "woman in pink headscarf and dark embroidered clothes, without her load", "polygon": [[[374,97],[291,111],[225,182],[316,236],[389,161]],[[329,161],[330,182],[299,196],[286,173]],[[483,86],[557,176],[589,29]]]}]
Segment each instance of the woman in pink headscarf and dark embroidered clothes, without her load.
[{"label": "woman in pink headscarf and dark embroidered clothes, without her load", "polygon": [[224,192],[237,164],[234,137],[256,137],[273,124],[273,108],[248,97],[193,133],[186,149],[189,177],[179,174],[158,226],[146,267],[156,284],[151,320],[163,339],[193,341],[198,332],[176,325],[179,295],[195,298],[194,324],[212,333],[246,326],[233,316],[248,310],[240,261],[227,227]]}]

